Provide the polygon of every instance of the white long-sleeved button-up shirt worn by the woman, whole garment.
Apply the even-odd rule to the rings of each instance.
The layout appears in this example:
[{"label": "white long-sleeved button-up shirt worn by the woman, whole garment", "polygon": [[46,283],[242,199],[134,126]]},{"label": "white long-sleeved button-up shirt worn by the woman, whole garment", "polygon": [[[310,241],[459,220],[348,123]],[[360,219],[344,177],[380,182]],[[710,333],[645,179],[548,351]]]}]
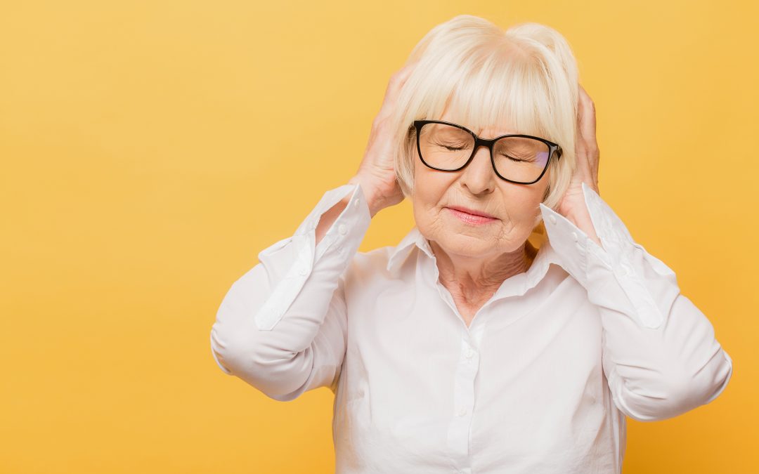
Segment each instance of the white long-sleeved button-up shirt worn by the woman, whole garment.
[{"label": "white long-sleeved button-up shirt worn by the woman, whole garment", "polygon": [[[336,472],[621,472],[625,415],[709,403],[732,359],[672,270],[583,190],[603,249],[541,205],[534,262],[469,326],[417,228],[358,252],[364,193],[329,190],[231,285],[213,357],[275,400],[330,388]],[[320,216],[347,193],[315,245]]]}]

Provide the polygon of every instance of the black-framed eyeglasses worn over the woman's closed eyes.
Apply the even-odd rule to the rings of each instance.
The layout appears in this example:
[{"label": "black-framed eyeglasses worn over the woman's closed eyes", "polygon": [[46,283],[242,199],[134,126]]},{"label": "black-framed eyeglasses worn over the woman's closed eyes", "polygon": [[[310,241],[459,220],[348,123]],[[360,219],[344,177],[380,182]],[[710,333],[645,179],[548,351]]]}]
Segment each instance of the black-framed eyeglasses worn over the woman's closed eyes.
[{"label": "black-framed eyeglasses worn over the woman's closed eyes", "polygon": [[438,171],[459,171],[474,158],[480,146],[490,150],[493,171],[502,180],[534,184],[543,177],[552,156],[560,159],[562,147],[532,135],[480,138],[466,127],[439,120],[415,120],[417,151],[424,165]]}]

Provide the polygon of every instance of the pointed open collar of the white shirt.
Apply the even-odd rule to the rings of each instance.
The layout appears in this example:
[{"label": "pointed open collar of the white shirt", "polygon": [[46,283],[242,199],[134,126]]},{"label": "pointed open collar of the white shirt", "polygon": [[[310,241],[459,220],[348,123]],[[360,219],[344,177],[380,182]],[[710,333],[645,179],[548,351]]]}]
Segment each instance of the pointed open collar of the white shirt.
[{"label": "pointed open collar of the white shirt", "polygon": [[[503,281],[501,287],[496,291],[496,297],[525,294],[546,276],[550,264],[561,265],[559,255],[551,247],[543,224],[540,224],[530,234],[528,240],[537,248],[537,255],[532,265],[530,265],[527,272],[519,273]],[[390,252],[387,270],[389,272],[395,270],[414,250],[417,252],[421,251],[430,259],[435,259],[435,254],[432,251],[432,247],[430,247],[430,243],[416,226],[411,228],[411,231],[408,231],[408,234]]]}]

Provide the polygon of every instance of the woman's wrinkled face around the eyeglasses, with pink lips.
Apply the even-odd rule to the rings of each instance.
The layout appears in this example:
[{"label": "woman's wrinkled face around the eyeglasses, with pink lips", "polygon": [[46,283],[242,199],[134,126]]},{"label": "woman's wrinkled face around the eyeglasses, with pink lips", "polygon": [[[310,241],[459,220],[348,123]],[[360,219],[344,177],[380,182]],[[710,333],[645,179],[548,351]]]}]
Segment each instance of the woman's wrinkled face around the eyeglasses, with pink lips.
[{"label": "woman's wrinkled face around the eyeglasses, with pink lips", "polygon": [[[445,114],[439,120],[452,121]],[[483,138],[520,133],[509,127],[472,131]],[[490,259],[518,250],[533,230],[547,186],[548,172],[535,184],[502,180],[493,171],[490,152],[483,146],[461,171],[427,168],[414,146],[414,219],[421,234],[449,256]],[[452,207],[468,208],[493,218],[471,221],[471,215]]]}]

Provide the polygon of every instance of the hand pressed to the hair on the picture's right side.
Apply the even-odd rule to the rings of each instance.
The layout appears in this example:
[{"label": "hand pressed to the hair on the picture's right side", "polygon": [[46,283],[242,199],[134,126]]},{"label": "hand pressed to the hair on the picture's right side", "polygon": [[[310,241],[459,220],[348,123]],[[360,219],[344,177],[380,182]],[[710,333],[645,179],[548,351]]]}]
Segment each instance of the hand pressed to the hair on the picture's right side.
[{"label": "hand pressed to the hair on the picture's right side", "polygon": [[596,140],[596,107],[583,86],[579,86],[578,101],[578,137],[575,146],[577,167],[569,182],[564,196],[556,209],[559,214],[572,221],[599,246],[599,238],[593,227],[591,216],[585,206],[582,184],[585,183],[598,193],[598,159],[600,151]]}]

